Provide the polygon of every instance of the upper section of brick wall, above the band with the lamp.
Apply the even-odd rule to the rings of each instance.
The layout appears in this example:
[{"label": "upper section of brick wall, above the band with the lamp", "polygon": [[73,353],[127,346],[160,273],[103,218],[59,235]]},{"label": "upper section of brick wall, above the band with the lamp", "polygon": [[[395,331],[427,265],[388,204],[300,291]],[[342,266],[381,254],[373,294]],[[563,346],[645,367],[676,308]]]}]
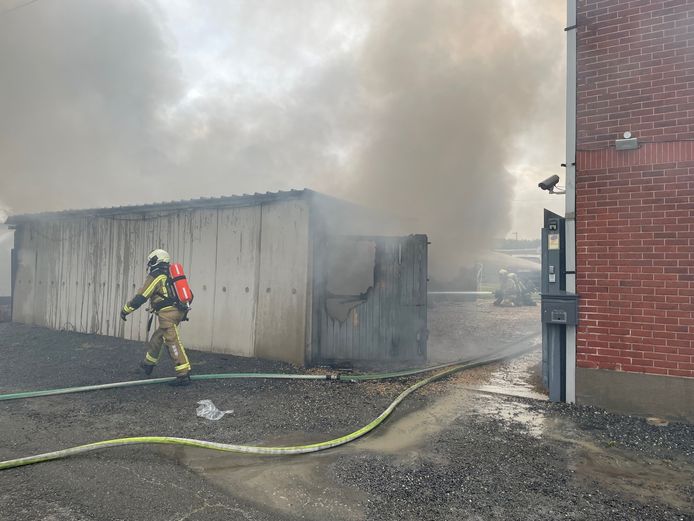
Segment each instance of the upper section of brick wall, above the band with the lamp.
[{"label": "upper section of brick wall, above the band with the lamp", "polygon": [[691,0],[579,0],[579,148],[694,139]]}]

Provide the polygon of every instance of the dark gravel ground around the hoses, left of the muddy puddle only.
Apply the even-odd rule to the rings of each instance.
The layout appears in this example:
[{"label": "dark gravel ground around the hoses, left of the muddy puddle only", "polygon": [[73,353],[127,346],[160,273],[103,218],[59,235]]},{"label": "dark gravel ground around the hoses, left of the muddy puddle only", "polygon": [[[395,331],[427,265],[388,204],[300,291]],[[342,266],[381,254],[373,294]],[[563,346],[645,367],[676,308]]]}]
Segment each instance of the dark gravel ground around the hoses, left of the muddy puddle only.
[{"label": "dark gravel ground around the hoses, left of the muddy puddle only", "polygon": [[[2,393],[143,378],[137,369],[143,346],[115,338],[3,323],[0,353]],[[258,359],[189,354],[198,373],[297,371]],[[171,373],[168,360],[163,366],[153,376]],[[373,419],[405,385],[219,380],[176,390],[154,385],[0,402],[0,459],[139,435],[248,444],[279,435],[330,439]],[[234,414],[218,422],[198,418],[202,399]],[[0,519],[229,519],[233,512],[246,519],[295,519],[246,504],[177,459],[165,448],[126,447],[2,471]]]}]

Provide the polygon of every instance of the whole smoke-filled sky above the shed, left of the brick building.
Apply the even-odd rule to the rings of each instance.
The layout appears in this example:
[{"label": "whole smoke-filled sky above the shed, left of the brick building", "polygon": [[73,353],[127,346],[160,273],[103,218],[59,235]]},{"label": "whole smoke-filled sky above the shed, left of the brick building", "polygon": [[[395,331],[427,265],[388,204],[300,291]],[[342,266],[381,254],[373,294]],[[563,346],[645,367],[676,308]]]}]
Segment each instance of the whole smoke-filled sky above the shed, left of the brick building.
[{"label": "whole smoke-filled sky above the shed, left of the brick building", "polygon": [[455,264],[563,210],[537,188],[563,174],[559,0],[24,4],[0,0],[0,213],[306,187]]}]

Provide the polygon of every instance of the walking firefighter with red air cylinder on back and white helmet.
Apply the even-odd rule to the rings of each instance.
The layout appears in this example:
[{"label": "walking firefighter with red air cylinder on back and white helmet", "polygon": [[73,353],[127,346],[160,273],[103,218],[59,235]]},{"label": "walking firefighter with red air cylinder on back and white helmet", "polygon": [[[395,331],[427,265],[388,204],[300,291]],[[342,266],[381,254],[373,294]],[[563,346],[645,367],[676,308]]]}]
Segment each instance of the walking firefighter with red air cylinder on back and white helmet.
[{"label": "walking firefighter with red air cylinder on back and white helmet", "polygon": [[[148,275],[145,283],[130,302],[120,312],[122,320],[150,302],[151,312],[157,315],[159,327],[149,339],[149,349],[145,360],[140,364],[146,374],[152,374],[159,362],[162,349],[166,345],[176,368],[176,380],[171,385],[188,385],[190,383],[190,361],[178,335],[178,325],[187,320],[189,304],[193,294],[183,274],[180,264],[171,264],[171,257],[164,250],[154,250],[147,256]],[[147,333],[153,317],[147,325]]]}]

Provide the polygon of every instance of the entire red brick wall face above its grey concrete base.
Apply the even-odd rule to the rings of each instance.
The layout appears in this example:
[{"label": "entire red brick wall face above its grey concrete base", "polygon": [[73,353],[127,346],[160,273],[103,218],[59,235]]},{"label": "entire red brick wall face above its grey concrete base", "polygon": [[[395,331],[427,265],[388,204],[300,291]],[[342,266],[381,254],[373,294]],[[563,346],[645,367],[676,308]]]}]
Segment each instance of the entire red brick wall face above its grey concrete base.
[{"label": "entire red brick wall face above its grey concrete base", "polygon": [[694,2],[577,14],[577,364],[694,377]]}]

